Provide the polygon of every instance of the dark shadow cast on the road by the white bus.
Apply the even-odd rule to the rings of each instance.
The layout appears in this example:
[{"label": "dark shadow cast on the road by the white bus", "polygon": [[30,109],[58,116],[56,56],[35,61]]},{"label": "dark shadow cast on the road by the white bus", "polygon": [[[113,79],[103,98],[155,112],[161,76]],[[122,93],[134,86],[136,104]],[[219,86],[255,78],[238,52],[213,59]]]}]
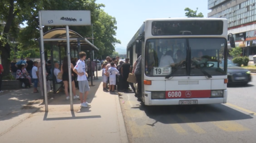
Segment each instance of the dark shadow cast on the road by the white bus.
[{"label": "dark shadow cast on the road by the white bus", "polygon": [[[163,124],[233,121],[253,118],[222,104],[185,106],[138,106],[146,115]],[[137,108],[137,107],[133,107]]]}]

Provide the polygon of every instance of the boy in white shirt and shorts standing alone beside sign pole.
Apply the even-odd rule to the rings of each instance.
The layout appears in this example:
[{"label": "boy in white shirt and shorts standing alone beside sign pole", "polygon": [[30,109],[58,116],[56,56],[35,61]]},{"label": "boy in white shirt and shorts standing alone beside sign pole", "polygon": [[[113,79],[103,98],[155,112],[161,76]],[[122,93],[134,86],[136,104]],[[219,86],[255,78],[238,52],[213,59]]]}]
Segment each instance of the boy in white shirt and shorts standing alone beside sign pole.
[{"label": "boy in white shirt and shorts standing alone beside sign pole", "polygon": [[[80,59],[77,61],[73,71],[77,74],[81,107],[88,107],[91,105],[86,102],[87,96],[90,91],[89,83],[87,80],[86,64],[84,63],[84,60],[86,59],[86,52],[80,52],[79,58]],[[83,97],[83,94],[84,94],[84,97]]]}]

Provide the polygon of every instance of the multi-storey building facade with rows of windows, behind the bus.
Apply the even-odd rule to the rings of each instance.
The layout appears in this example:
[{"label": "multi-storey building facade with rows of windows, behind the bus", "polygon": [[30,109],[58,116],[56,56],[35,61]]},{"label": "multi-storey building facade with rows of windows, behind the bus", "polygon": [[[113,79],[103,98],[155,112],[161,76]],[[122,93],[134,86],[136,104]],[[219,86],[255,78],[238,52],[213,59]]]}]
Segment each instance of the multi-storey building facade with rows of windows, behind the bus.
[{"label": "multi-storey building facade with rows of windows, behind the bus", "polygon": [[228,33],[233,34],[243,56],[250,60],[256,55],[255,3],[256,0],[208,0],[208,17],[228,19]]}]

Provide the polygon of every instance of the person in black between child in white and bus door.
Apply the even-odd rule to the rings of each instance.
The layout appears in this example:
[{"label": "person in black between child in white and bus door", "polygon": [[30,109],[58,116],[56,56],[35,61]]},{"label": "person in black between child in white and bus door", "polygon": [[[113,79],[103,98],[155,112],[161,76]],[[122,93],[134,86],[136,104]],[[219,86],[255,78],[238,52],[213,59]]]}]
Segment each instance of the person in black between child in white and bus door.
[{"label": "person in black between child in white and bus door", "polygon": [[121,67],[121,74],[123,77],[123,88],[125,92],[129,91],[129,82],[127,82],[127,79],[129,77],[129,73],[131,71],[131,64],[129,63],[129,58],[125,59],[125,62],[122,64]]}]

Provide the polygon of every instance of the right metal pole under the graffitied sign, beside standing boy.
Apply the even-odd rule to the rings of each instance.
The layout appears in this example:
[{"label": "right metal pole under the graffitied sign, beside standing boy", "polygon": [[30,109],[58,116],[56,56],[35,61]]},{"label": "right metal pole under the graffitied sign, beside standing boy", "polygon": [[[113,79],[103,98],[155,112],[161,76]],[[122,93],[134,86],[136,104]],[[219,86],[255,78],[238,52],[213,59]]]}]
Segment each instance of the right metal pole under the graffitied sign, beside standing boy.
[{"label": "right metal pole under the graffitied sign, beside standing boy", "polygon": [[[73,110],[73,97],[72,97],[72,76],[71,76],[71,58],[70,58],[70,43],[69,43],[69,26],[66,26],[67,33],[67,56],[69,67],[69,94],[70,94],[70,110]],[[75,96],[75,95],[74,95]]]}]

